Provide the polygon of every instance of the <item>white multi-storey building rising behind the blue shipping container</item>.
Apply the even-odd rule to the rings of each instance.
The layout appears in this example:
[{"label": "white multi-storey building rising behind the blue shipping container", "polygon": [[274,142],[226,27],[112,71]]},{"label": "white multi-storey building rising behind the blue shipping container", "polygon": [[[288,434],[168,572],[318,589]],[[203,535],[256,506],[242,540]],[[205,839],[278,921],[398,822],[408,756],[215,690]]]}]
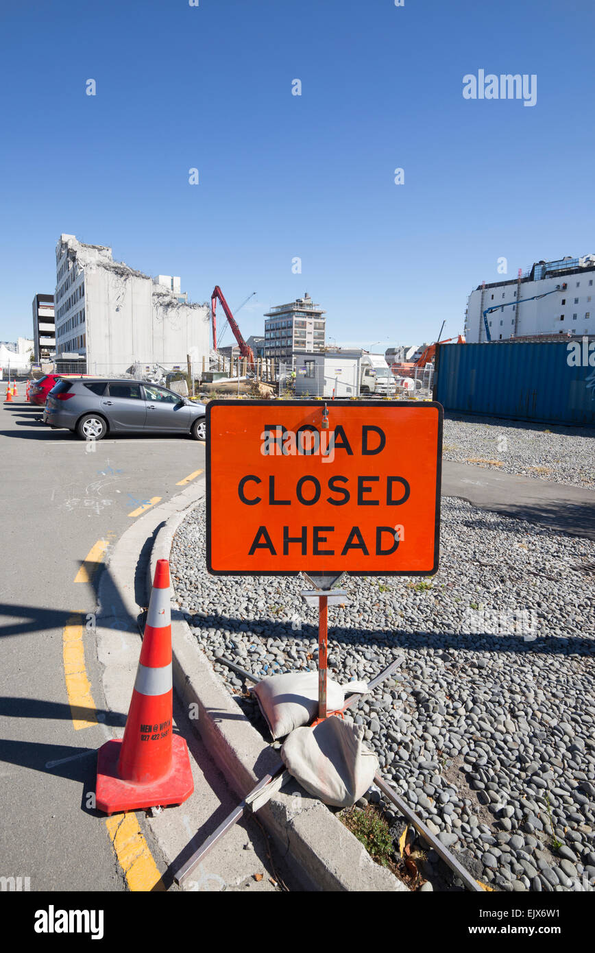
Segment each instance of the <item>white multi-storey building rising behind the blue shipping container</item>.
[{"label": "white multi-storey building rising behind the blue shipping container", "polygon": [[479,285],[467,301],[464,336],[468,344],[477,344],[540,335],[593,335],[594,317],[595,255],[565,257],[536,262],[510,281]]}]

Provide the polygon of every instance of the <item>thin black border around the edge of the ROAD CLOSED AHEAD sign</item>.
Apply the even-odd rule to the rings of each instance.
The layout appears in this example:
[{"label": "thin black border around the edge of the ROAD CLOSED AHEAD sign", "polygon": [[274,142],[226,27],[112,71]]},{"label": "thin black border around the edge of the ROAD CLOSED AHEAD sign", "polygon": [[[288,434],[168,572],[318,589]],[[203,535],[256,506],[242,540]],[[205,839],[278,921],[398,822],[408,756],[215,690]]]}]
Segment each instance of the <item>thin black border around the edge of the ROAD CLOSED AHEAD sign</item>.
[{"label": "thin black border around the edge of the ROAD CLOSED AHEAD sign", "polygon": [[[320,407],[324,404],[324,400],[211,400],[206,405],[207,411],[207,440],[205,448],[205,460],[206,460],[206,517],[207,517],[207,538],[206,538],[206,562],[207,562],[207,572],[211,576],[299,576],[301,573],[320,573],[321,570],[318,568],[307,569],[305,566],[303,569],[292,569],[292,570],[279,570],[278,572],[274,570],[261,570],[260,572],[253,572],[249,569],[244,570],[232,570],[232,569],[214,569],[211,563],[211,409],[213,407],[237,407],[238,403],[241,406],[249,405],[250,407]],[[400,400],[397,403],[395,409],[397,410],[400,407],[414,407],[417,410],[427,407],[435,407],[438,410],[438,447],[437,447],[437,472],[436,472],[436,525],[434,528],[434,565],[432,569],[418,570],[417,572],[401,569],[401,570],[387,570],[386,572],[379,573],[378,570],[375,570],[371,573],[354,573],[346,569],[332,569],[330,567],[324,567],[325,575],[337,576],[339,574],[345,573],[347,576],[356,576],[356,577],[366,577],[366,576],[435,576],[438,572],[440,564],[440,527],[441,527],[441,482],[442,482],[442,421],[444,417],[444,408],[437,400]],[[326,405],[329,408],[333,406],[341,407],[382,407],[386,410],[387,401],[386,400],[327,400]]]}]

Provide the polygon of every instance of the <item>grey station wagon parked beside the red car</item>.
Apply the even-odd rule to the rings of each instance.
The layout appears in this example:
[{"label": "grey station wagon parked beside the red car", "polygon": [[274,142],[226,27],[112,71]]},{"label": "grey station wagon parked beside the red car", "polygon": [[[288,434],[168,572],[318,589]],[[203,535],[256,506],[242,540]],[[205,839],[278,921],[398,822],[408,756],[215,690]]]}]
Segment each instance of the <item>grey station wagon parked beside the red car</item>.
[{"label": "grey station wagon parked beside the red car", "polygon": [[43,421],[83,440],[123,433],[206,438],[204,404],[143,380],[63,378],[48,395]]}]

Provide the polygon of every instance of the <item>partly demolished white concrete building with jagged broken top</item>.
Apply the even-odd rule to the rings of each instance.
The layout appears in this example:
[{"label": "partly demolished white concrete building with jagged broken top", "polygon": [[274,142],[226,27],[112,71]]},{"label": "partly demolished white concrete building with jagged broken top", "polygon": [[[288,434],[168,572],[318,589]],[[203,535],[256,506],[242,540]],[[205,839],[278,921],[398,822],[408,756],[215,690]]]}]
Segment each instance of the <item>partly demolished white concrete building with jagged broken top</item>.
[{"label": "partly demolished white concrete building with jagged broken top", "polygon": [[[208,362],[210,314],[188,304],[179,278],[166,287],[113,260],[112,249],[62,234],[56,245],[56,359],[90,375],[134,373],[139,365],[195,371]],[[207,364],[208,366],[208,364]],[[78,366],[76,368],[78,370]],[[70,368],[69,368],[70,370]]]}]

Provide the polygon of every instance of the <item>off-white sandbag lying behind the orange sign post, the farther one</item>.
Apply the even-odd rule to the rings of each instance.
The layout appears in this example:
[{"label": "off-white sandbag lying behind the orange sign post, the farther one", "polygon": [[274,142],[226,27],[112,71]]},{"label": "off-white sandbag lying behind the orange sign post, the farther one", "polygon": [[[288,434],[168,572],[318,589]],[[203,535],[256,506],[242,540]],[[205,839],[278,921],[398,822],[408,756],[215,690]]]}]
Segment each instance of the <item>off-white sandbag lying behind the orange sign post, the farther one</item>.
[{"label": "off-white sandbag lying behind the orange sign post, the farther one", "polygon": [[[346,695],[365,693],[365,681],[349,681],[339,685],[326,682],[326,708],[332,712],[340,708]],[[318,672],[287,672],[262,679],[250,689],[254,692],[271,734],[275,740],[289,735],[302,724],[308,724],[318,715]]]}]

